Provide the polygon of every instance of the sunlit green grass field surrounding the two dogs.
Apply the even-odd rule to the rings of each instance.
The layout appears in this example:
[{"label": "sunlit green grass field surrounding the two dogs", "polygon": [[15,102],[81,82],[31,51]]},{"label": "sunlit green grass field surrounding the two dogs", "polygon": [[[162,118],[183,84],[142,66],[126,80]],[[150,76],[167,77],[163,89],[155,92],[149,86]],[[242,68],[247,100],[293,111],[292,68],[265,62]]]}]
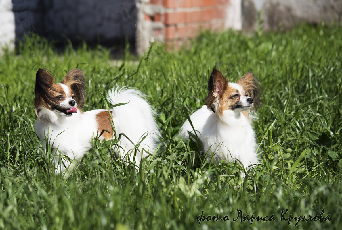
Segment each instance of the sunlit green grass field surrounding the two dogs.
[{"label": "sunlit green grass field surrounding the two dogs", "polygon": [[[154,43],[143,57],[127,53],[122,62],[103,47],[61,53],[41,38],[26,39],[17,53],[0,57],[0,229],[339,229],[341,38],[338,25],[249,37],[207,32],[188,50],[169,53]],[[253,121],[261,164],[244,180],[236,163],[202,163],[197,147],[177,138],[221,62],[233,81],[252,71],[263,89]],[[165,145],[137,174],[110,160],[109,142],[95,142],[72,175],[56,176],[34,130],[42,67],[58,80],[83,69],[85,111],[105,108],[101,93],[115,85],[141,90],[159,113]],[[217,215],[223,219],[213,220]],[[251,222],[252,215],[259,220]],[[309,215],[315,220],[296,225]]]}]

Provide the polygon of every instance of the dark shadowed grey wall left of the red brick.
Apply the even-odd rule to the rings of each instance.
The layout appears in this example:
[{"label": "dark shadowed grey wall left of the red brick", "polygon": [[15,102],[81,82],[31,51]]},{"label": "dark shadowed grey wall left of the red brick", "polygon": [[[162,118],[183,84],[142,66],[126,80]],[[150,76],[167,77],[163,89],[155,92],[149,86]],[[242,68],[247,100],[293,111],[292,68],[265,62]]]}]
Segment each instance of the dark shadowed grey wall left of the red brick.
[{"label": "dark shadowed grey wall left of the red brick", "polygon": [[16,39],[31,31],[49,40],[135,43],[135,0],[12,0]]}]

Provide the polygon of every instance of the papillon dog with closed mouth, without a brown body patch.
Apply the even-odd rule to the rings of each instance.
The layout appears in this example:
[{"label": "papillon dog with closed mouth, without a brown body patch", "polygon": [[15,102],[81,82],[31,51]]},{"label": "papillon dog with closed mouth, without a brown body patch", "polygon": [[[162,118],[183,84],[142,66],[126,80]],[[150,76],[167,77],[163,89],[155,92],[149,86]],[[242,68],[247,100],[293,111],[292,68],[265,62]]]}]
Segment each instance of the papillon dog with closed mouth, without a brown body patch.
[{"label": "papillon dog with closed mouth, without a brown body patch", "polygon": [[215,66],[208,81],[205,105],[190,116],[193,127],[185,121],[181,136],[187,138],[188,131],[196,131],[204,153],[208,153],[207,159],[212,157],[212,162],[237,160],[246,170],[257,164],[257,144],[249,114],[260,106],[258,84],[253,73],[231,83]]}]

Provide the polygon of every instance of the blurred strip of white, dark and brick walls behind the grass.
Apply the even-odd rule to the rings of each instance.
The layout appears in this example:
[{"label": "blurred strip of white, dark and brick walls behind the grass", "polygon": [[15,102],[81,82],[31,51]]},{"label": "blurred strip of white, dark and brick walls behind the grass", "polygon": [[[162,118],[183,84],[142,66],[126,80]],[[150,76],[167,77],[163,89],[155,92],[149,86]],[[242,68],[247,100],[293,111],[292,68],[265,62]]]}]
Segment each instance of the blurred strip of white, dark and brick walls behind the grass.
[{"label": "blurred strip of white, dark and brick walls behind the grass", "polygon": [[101,44],[142,54],[187,46],[203,30],[289,30],[342,21],[342,0],[0,0],[0,46],[36,33],[57,46]]}]

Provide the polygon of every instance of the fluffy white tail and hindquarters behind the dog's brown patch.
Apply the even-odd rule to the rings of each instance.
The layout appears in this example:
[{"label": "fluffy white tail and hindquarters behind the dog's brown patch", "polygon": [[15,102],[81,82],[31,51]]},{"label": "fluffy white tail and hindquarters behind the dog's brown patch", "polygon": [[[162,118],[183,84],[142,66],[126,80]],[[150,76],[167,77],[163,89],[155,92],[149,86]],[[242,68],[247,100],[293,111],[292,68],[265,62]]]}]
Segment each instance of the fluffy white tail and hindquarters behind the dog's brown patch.
[{"label": "fluffy white tail and hindquarters behind the dog's brown patch", "polygon": [[146,151],[149,153],[155,151],[160,135],[154,117],[155,112],[145,98],[146,96],[139,90],[128,87],[113,88],[107,95],[107,100],[112,105],[128,102],[113,108],[112,116],[117,136],[124,133],[130,139],[121,136],[121,148],[117,152],[120,157],[127,154],[128,158],[133,161],[134,148],[140,143],[135,157],[138,165],[141,158],[148,155]]}]

